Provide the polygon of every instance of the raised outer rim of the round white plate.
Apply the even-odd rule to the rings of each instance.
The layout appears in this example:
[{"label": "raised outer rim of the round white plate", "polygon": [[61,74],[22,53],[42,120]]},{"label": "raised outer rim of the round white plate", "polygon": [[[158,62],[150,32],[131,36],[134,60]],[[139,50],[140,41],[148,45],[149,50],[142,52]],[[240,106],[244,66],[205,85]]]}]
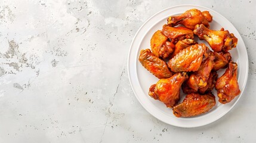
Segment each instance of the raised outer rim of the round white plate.
[{"label": "raised outer rim of the round white plate", "polygon": [[[131,81],[131,78],[132,78],[132,77],[131,77],[130,67],[129,67],[129,64],[130,64],[129,61],[130,61],[130,56],[131,56],[131,49],[132,49],[132,45],[133,45],[135,39],[137,38],[138,33],[140,32],[140,30],[144,27],[144,25],[145,25],[150,19],[152,19],[153,17],[155,17],[156,15],[158,15],[158,14],[160,14],[160,13],[163,13],[163,12],[166,11],[166,10],[169,10],[169,9],[172,9],[172,8],[176,8],[176,7],[194,7],[194,8],[198,7],[198,8],[204,8],[204,9],[206,9],[206,10],[208,10],[208,11],[212,11],[212,12],[218,14],[218,16],[220,16],[221,18],[227,20],[226,17],[224,17],[222,14],[218,13],[217,11],[212,10],[211,8],[203,7],[203,6],[201,6],[201,5],[191,5],[191,4],[175,5],[175,6],[173,6],[173,7],[165,8],[164,10],[161,10],[161,11],[159,11],[158,13],[153,14],[151,17],[147,18],[146,21],[144,21],[144,23],[140,26],[140,28],[139,28],[139,29],[137,30],[137,32],[135,33],[134,38],[132,39],[131,45],[130,45],[130,47],[129,47],[129,52],[128,52],[128,62],[127,62],[128,77],[129,77],[129,83],[130,83],[130,85],[131,85],[131,88],[132,88],[132,91],[133,91],[135,97],[136,97],[137,100],[140,102],[140,104],[143,106],[143,108],[144,108],[147,112],[149,112],[153,117],[155,117],[155,118],[158,119],[158,120],[161,120],[162,122],[164,122],[164,123],[166,123],[166,124],[168,124],[168,125],[177,126],[177,127],[181,127],[181,128],[195,128],[195,127],[199,127],[199,126],[208,125],[209,123],[213,123],[213,122],[215,122],[216,120],[220,119],[220,118],[223,117],[225,114],[227,114],[227,113],[236,105],[236,103],[239,101],[240,97],[242,97],[243,91],[245,91],[245,87],[246,87],[247,80],[248,80],[248,72],[249,72],[248,53],[247,53],[247,50],[246,50],[245,43],[244,43],[242,37],[240,36],[240,33],[238,32],[238,30],[236,29],[236,27],[235,27],[229,20],[227,20],[227,21],[229,21],[230,24],[232,24],[233,27],[235,27],[236,32],[239,33],[239,37],[240,37],[239,42],[240,42],[242,45],[245,46],[245,54],[246,54],[246,57],[243,57],[243,58],[246,58],[246,59],[245,59],[245,61],[246,61],[246,63],[245,63],[245,64],[246,64],[245,80],[242,81],[244,86],[243,86],[243,89],[241,90],[240,95],[238,96],[238,99],[233,103],[233,105],[232,105],[231,107],[228,108],[228,110],[224,111],[222,114],[219,114],[217,117],[215,117],[215,120],[210,120],[209,122],[204,122],[204,123],[202,123],[201,125],[196,125],[196,126],[193,126],[193,125],[192,125],[192,126],[175,125],[175,124],[172,124],[172,123],[165,122],[164,120],[160,119],[159,117],[156,117],[156,116],[152,113],[152,111],[150,111],[149,108],[146,107],[146,105],[142,104],[140,98],[138,98],[138,95],[137,95],[136,92],[135,92],[134,86],[132,85],[132,81]],[[136,70],[137,70],[137,69],[136,69]],[[137,80],[138,80],[138,79],[137,79]],[[217,101],[217,102],[218,102],[218,101]]]}]

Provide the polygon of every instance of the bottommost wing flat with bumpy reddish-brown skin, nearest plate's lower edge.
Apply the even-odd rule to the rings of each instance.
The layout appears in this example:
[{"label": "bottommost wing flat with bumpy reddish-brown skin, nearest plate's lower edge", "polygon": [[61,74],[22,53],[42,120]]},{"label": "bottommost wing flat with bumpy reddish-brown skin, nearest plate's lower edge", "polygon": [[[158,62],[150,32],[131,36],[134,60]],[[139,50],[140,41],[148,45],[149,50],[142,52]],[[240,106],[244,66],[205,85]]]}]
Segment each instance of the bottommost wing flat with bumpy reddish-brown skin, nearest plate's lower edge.
[{"label": "bottommost wing flat with bumpy reddish-brown skin, nearest plate's lower edge", "polygon": [[176,117],[192,117],[211,110],[216,104],[215,97],[211,93],[188,94],[183,102],[173,107],[173,114]]}]

